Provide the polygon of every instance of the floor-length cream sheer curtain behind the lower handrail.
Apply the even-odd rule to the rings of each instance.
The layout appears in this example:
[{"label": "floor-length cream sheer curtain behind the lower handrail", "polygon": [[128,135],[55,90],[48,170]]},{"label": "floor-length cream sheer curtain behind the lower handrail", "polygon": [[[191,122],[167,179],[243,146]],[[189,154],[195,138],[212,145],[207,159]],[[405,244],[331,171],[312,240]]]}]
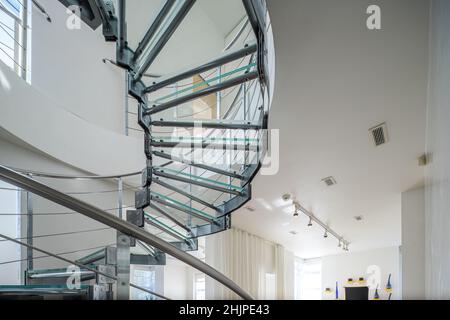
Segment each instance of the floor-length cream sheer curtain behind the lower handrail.
[{"label": "floor-length cream sheer curtain behind the lower handrail", "polygon": [[[284,256],[283,247],[235,228],[206,239],[206,263],[256,299],[284,298]],[[212,279],[206,280],[206,298],[239,299]]]}]

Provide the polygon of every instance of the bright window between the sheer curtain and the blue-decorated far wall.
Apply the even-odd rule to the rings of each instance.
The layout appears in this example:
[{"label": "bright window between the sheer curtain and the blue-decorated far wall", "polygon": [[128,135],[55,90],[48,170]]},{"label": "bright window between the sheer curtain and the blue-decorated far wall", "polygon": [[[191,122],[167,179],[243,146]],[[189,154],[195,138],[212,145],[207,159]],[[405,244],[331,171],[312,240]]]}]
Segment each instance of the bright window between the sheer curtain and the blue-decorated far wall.
[{"label": "bright window between the sheer curtain and the blue-decorated far wall", "polygon": [[322,262],[295,260],[295,299],[322,299]]}]

